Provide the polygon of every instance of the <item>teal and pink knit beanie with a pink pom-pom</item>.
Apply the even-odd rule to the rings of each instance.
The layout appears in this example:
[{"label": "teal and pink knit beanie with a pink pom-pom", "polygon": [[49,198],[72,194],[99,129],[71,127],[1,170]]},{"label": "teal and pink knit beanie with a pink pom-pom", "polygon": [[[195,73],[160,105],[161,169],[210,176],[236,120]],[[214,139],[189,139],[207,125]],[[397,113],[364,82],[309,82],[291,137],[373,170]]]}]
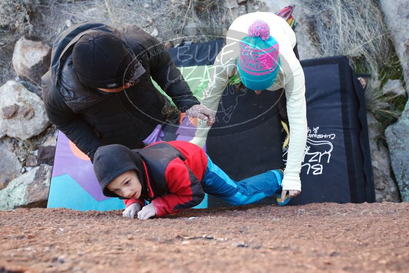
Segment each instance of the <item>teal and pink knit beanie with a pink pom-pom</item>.
[{"label": "teal and pink knit beanie with a pink pom-pom", "polygon": [[248,36],[240,40],[237,70],[243,84],[252,90],[264,90],[276,80],[280,69],[279,45],[270,36],[270,28],[256,20],[248,28]]}]

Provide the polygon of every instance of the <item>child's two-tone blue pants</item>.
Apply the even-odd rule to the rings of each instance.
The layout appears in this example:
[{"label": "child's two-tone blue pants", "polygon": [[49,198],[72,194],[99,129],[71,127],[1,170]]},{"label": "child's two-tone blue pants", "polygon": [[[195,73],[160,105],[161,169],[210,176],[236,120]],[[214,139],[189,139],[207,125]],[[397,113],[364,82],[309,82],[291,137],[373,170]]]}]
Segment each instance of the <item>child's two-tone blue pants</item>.
[{"label": "child's two-tone blue pants", "polygon": [[208,167],[201,186],[206,193],[237,206],[257,202],[281,192],[282,179],[282,171],[271,170],[236,182],[213,164],[208,156]]}]

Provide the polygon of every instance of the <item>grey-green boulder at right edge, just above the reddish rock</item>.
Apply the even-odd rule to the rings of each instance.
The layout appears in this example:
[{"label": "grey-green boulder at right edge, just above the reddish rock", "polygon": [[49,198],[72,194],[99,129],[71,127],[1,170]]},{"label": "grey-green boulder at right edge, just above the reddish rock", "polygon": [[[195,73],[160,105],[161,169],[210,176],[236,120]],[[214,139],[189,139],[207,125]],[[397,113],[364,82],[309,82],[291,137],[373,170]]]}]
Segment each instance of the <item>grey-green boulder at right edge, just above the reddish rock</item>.
[{"label": "grey-green boulder at right edge, just above the reddish rock", "polygon": [[385,130],[385,137],[402,201],[409,202],[409,101],[398,121]]}]

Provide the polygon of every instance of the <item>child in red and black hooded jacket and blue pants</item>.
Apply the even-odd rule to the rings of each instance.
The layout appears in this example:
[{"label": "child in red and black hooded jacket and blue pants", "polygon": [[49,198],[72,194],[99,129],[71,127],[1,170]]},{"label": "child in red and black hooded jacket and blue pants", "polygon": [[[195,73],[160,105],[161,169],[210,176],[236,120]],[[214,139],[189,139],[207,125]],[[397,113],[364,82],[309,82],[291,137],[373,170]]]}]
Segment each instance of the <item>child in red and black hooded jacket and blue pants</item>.
[{"label": "child in red and black hooded jacket and blue pants", "polygon": [[[197,145],[157,142],[130,150],[114,144],[98,148],[94,171],[105,196],[125,199],[123,216],[162,217],[198,205],[205,193],[234,205],[281,192],[281,170],[233,181]],[[145,201],[150,203],[145,206]]]}]

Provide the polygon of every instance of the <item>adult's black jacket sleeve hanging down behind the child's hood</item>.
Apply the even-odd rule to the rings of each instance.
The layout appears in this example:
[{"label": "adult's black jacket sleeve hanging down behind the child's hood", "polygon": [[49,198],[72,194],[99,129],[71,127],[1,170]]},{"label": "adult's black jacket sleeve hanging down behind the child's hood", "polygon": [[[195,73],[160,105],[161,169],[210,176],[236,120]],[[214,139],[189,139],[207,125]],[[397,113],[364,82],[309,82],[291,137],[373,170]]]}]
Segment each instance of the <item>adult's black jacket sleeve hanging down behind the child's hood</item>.
[{"label": "adult's black jacket sleeve hanging down behind the child's hood", "polygon": [[73,112],[55,90],[51,92],[47,83],[50,80],[46,76],[42,78],[42,97],[49,120],[93,161],[95,152],[103,144],[89,123]]}]

